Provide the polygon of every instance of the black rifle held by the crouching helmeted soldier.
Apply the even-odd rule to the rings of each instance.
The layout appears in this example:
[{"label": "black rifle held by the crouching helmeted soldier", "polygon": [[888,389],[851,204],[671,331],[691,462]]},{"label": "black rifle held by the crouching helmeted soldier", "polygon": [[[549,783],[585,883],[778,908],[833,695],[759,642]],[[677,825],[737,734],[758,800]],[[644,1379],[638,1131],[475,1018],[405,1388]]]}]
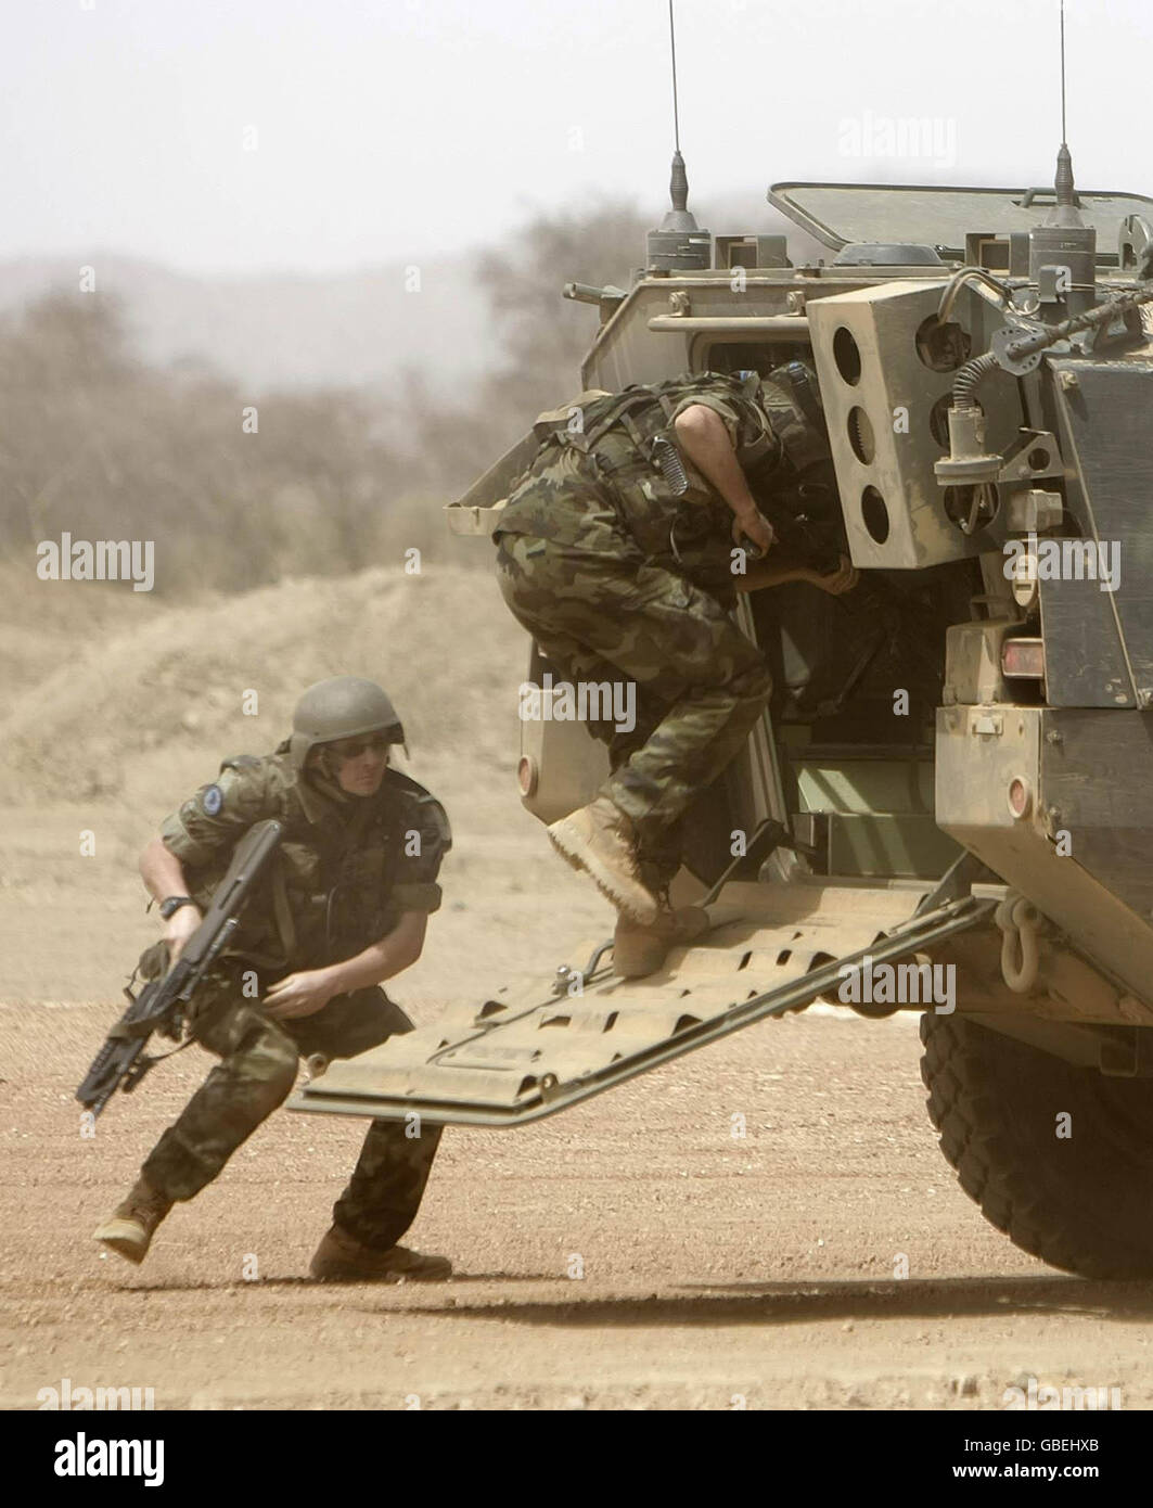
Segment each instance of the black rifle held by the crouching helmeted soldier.
[{"label": "black rifle held by the crouching helmeted soldier", "polygon": [[[273,857],[283,826],[279,822],[258,822],[232,855],[228,873],[213,896],[213,903],[184,946],[184,952],[163,979],[154,979],[133,995],[131,1004],[109,1031],[92,1068],[75,1092],[80,1104],[98,1116],[116,1090],[136,1089],[157,1057],[146,1057],[145,1047],[154,1031],[179,1041],[188,1001],[213,962],[228,947],[237,930],[240,912],[268,860]],[[167,1054],[161,1054],[167,1056]]]}]

